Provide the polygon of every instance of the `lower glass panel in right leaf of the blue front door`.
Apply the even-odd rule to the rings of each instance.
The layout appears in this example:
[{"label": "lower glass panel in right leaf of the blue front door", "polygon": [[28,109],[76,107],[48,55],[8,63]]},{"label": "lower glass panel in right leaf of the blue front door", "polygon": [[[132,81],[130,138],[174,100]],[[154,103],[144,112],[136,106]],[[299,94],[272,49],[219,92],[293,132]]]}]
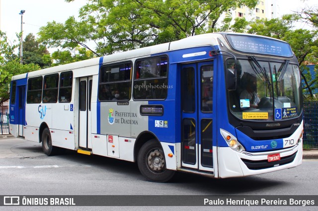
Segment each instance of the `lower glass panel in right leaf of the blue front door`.
[{"label": "lower glass panel in right leaf of the blue front door", "polygon": [[201,165],[213,167],[212,119],[201,120]]}]

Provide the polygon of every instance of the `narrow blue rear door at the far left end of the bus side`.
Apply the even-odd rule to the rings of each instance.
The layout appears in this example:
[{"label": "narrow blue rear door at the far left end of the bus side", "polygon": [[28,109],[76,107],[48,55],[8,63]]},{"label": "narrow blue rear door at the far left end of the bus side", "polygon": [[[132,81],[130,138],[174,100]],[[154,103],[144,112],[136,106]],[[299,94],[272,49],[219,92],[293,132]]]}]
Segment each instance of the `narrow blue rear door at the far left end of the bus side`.
[{"label": "narrow blue rear door at the far left end of the bus side", "polygon": [[17,87],[18,106],[19,106],[19,118],[18,118],[18,136],[24,137],[24,125],[25,125],[25,85]]}]

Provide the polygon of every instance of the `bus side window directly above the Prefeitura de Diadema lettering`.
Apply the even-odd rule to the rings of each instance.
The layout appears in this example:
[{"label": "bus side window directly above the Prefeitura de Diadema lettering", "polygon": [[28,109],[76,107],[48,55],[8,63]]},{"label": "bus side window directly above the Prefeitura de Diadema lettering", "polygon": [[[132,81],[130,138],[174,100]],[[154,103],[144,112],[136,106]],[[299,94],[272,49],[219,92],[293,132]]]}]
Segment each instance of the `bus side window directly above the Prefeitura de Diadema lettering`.
[{"label": "bus side window directly above the Prefeitura de Diadema lettering", "polygon": [[131,97],[131,62],[100,68],[99,101],[128,101]]}]

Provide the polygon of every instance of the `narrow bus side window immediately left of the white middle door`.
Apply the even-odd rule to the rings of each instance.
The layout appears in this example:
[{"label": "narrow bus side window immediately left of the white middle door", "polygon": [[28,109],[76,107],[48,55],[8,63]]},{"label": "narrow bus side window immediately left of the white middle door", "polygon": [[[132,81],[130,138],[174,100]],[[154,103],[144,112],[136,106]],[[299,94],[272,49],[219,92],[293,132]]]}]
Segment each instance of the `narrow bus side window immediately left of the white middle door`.
[{"label": "narrow bus side window immediately left of the white middle door", "polygon": [[59,103],[70,103],[72,100],[73,72],[60,74]]}]

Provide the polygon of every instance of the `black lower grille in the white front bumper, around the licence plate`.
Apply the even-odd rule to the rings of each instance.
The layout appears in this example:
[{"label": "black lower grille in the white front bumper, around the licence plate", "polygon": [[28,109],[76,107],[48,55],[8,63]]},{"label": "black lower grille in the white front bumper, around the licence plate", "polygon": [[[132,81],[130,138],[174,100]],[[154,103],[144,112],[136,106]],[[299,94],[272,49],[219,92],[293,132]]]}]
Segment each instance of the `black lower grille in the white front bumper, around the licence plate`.
[{"label": "black lower grille in the white front bumper, around the licence plate", "polygon": [[259,169],[271,168],[271,167],[277,166],[277,164],[285,165],[285,164],[291,163],[295,159],[296,154],[297,154],[297,152],[294,153],[293,155],[282,157],[282,158],[280,158],[280,160],[273,161],[273,162],[268,162],[267,159],[249,160],[249,159],[241,158],[241,160],[245,163],[247,168],[249,168],[251,170],[259,170]]}]

